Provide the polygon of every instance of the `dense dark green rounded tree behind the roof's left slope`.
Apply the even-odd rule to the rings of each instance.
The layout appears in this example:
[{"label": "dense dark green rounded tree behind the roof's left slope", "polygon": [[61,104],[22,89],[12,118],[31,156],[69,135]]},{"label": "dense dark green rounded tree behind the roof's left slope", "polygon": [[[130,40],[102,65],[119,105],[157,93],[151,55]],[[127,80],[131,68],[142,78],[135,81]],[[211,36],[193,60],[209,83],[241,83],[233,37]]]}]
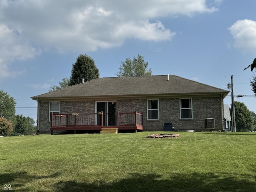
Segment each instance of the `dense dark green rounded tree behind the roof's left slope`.
[{"label": "dense dark green rounded tree behind the roof's left slope", "polygon": [[100,77],[99,69],[94,60],[86,54],[79,55],[72,66],[69,86],[81,83],[83,78],[86,82]]}]

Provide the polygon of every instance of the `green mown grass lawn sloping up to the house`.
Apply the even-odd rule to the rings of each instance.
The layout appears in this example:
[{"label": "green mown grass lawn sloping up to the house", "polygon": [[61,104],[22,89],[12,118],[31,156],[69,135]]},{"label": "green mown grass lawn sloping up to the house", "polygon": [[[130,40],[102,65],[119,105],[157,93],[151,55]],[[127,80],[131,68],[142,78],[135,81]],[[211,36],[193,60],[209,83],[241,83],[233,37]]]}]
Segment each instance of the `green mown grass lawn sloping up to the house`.
[{"label": "green mown grass lawn sloping up to the house", "polygon": [[0,190],[256,191],[256,133],[152,133],[0,138]]}]

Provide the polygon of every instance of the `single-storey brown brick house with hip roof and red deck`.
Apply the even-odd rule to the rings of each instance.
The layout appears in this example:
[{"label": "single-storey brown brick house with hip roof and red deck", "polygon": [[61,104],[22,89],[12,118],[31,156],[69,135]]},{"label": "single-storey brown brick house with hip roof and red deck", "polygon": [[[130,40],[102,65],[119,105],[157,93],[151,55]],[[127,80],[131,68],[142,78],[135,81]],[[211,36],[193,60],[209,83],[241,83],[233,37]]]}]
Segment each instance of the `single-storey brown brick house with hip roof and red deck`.
[{"label": "single-storey brown brick house with hip roof and red deck", "polygon": [[98,78],[31,97],[38,102],[38,130],[203,131],[206,118],[224,128],[229,92],[176,75]]}]

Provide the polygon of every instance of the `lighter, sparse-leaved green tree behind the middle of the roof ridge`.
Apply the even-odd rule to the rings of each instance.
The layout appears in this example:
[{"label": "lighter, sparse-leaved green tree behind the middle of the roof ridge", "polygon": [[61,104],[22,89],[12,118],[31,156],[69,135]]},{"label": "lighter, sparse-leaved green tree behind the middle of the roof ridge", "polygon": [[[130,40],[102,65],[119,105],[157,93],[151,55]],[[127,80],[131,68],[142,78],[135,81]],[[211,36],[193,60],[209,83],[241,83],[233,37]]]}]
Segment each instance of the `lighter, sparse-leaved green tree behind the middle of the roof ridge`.
[{"label": "lighter, sparse-leaved green tree behind the middle of the roof ridge", "polygon": [[120,62],[119,71],[116,73],[118,77],[124,76],[150,76],[152,75],[151,69],[148,68],[148,62],[144,61],[144,57],[126,58],[125,62]]}]

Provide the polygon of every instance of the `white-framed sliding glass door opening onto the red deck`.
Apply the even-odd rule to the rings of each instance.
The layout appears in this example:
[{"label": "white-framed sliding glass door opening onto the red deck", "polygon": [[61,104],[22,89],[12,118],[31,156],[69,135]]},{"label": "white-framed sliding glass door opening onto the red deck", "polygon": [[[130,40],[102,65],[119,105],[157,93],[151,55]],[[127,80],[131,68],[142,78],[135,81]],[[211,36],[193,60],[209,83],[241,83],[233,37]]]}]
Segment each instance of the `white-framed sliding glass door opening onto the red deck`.
[{"label": "white-framed sliding glass door opening onto the red deck", "polygon": [[[116,102],[96,102],[96,113],[103,112],[103,126],[116,126]],[[97,116],[97,125],[101,118]]]}]

